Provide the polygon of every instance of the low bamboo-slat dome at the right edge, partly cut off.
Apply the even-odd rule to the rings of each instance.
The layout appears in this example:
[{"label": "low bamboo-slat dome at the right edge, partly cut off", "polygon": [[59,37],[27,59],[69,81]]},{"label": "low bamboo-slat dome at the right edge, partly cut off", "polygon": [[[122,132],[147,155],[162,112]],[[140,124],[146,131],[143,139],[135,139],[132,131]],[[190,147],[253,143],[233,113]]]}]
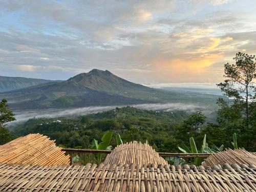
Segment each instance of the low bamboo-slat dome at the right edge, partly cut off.
[{"label": "low bamboo-slat dome at the right edge, partly cut off", "polygon": [[231,150],[228,148],[223,152],[218,152],[211,154],[203,162],[203,166],[213,166],[213,165],[223,165],[224,163],[228,164],[254,164],[256,165],[256,154],[247,152],[246,150],[237,149]]}]

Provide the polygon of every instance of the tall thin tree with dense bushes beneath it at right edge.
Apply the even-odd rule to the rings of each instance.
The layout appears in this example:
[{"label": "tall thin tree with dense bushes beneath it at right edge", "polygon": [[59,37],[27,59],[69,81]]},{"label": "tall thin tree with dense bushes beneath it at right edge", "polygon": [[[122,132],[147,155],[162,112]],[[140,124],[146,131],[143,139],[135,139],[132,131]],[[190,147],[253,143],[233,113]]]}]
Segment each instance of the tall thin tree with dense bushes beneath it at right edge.
[{"label": "tall thin tree with dense bushes beneath it at right edge", "polygon": [[228,140],[239,133],[246,142],[242,146],[255,149],[255,111],[256,111],[256,59],[255,55],[237,53],[236,63],[224,66],[226,80],[218,84],[226,96],[232,100],[219,99],[218,123],[228,133]]}]

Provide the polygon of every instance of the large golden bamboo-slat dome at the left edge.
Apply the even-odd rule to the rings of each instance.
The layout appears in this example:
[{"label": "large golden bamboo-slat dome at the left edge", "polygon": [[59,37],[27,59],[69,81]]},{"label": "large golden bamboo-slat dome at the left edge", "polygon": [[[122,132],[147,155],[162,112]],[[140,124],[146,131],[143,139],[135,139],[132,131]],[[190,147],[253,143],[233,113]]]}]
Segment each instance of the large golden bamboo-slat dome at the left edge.
[{"label": "large golden bamboo-slat dome at the left edge", "polygon": [[0,162],[32,165],[70,164],[70,157],[53,140],[40,134],[29,134],[0,145]]}]

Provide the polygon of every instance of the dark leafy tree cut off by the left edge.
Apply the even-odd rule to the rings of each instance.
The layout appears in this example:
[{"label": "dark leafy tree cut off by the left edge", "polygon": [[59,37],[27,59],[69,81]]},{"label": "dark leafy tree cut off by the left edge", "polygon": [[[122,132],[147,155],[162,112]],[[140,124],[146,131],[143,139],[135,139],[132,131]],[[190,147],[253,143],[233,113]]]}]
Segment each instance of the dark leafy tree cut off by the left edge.
[{"label": "dark leafy tree cut off by the left edge", "polygon": [[0,144],[5,144],[12,140],[12,135],[6,128],[6,123],[16,120],[14,118],[14,114],[9,109],[6,103],[6,99],[2,99],[2,101],[0,102]]}]

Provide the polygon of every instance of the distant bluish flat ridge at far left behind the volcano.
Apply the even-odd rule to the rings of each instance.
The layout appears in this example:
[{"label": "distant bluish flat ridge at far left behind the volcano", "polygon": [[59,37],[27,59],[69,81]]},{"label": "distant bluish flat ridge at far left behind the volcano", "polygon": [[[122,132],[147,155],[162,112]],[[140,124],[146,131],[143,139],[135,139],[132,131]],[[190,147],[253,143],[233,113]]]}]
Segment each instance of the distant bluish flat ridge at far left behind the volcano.
[{"label": "distant bluish flat ridge at far left behind the volcano", "polygon": [[37,86],[38,84],[47,83],[47,82],[59,82],[59,81],[25,78],[25,77],[0,76],[0,92],[6,92],[11,90],[27,88],[31,86]]}]

